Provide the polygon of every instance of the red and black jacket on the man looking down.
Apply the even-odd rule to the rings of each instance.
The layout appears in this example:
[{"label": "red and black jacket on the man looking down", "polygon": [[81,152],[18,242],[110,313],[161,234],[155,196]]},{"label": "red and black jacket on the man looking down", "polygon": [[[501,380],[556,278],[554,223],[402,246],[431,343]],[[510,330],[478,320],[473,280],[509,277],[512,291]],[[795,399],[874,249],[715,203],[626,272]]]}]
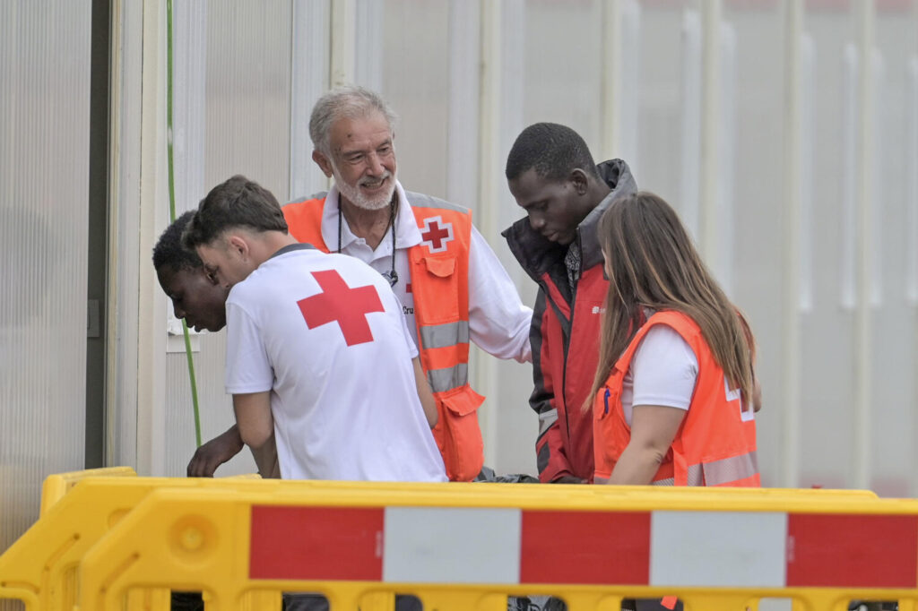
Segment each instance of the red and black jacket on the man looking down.
[{"label": "red and black jacket on the man looking down", "polygon": [[568,247],[543,238],[521,218],[503,232],[510,250],[539,284],[532,312],[532,377],[529,399],[539,415],[535,442],[539,479],[565,475],[593,481],[593,415],[582,409],[599,361],[599,325],[609,282],[602,275],[599,217],[621,195],[637,191],[628,164],[603,161],[599,175],[611,193],[577,226],[572,248],[580,249],[580,276],[572,291],[567,280]]}]

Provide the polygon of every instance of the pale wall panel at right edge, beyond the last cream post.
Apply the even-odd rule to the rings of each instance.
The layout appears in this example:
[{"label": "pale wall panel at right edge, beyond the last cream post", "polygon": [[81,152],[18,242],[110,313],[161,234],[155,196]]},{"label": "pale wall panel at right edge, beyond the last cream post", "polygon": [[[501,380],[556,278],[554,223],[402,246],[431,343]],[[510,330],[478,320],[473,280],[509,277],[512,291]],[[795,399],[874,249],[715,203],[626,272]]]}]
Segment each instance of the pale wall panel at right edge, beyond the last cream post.
[{"label": "pale wall panel at right edge, beyond the last cream post", "polygon": [[915,22],[906,6],[877,3],[876,52],[879,74],[874,106],[873,246],[875,283],[873,343],[873,422],[869,485],[878,494],[913,494],[912,445],[916,418],[914,308],[908,303],[908,125],[909,60]]}]

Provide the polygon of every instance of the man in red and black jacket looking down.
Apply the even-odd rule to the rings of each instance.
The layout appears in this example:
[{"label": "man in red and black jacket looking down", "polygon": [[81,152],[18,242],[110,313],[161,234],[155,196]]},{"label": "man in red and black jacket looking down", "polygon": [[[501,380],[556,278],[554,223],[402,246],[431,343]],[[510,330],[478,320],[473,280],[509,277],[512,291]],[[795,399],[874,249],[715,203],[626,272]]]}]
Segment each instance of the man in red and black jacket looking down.
[{"label": "man in red and black jacket looking down", "polygon": [[556,123],[536,123],[521,132],[506,174],[527,217],[503,236],[539,284],[530,330],[539,479],[590,482],[593,421],[581,407],[596,373],[600,313],[609,287],[597,223],[613,200],[634,193],[637,185],[627,163],[597,165],[577,132]]}]

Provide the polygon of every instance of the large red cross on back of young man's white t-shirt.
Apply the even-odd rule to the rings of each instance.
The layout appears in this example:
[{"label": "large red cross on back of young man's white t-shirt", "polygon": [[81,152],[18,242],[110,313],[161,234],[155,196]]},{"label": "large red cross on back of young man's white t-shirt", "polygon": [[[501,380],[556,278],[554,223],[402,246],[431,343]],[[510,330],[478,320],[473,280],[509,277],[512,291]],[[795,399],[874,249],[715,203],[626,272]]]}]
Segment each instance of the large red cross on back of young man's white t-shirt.
[{"label": "large red cross on back of young man's white t-shirt", "polygon": [[384,311],[375,286],[351,288],[336,270],[311,273],[322,292],[297,301],[306,326],[317,328],[337,322],[348,346],[373,341],[366,315]]}]

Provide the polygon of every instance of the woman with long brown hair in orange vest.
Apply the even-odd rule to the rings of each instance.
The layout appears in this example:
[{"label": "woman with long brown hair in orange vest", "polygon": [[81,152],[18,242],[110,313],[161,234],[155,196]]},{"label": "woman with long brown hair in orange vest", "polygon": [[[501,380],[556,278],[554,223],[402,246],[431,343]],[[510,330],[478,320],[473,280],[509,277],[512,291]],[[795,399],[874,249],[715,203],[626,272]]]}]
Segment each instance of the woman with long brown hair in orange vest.
[{"label": "woman with long brown hair in orange vest", "polygon": [[596,483],[760,485],[754,340],[676,212],[641,192],[599,220],[609,276]]}]

